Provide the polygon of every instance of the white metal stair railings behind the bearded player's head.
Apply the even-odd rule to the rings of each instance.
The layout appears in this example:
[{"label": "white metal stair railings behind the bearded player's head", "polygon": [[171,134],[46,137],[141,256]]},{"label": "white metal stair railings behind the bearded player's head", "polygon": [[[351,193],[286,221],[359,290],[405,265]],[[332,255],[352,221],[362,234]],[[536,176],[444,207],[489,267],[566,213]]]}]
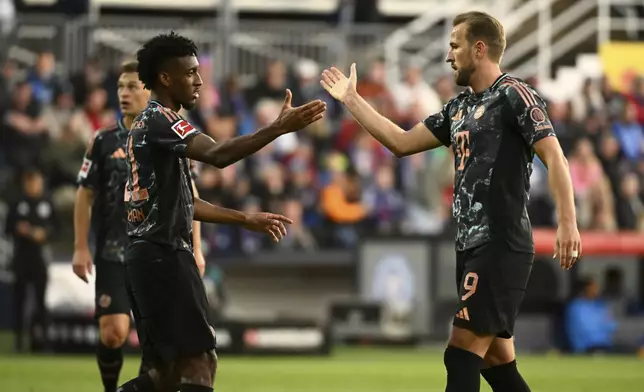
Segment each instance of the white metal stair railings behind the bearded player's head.
[{"label": "white metal stair railings behind the bearded player's head", "polygon": [[[494,9],[493,14],[504,24],[506,37],[516,32],[523,35],[518,40],[508,39],[503,65],[521,77],[537,76],[551,79],[553,65],[571,51],[596,36],[597,49],[611,40],[616,31],[626,31],[630,37],[644,28],[644,19],[638,18],[630,7],[643,5],[638,0],[528,0],[515,7],[505,9],[496,3],[481,6],[473,1],[453,1],[440,10],[429,10],[408,25],[396,30],[386,40],[385,56],[387,76],[390,82],[400,79],[404,57],[415,57],[416,63],[426,69],[427,75],[448,71],[444,64],[449,37],[449,19],[457,13],[479,9]],[[553,18],[554,6],[563,8]],[[492,6],[492,7],[491,7]],[[532,31],[526,23],[535,20]],[[414,37],[436,26],[445,26],[445,35],[434,34],[424,48],[410,53],[410,42]],[[642,27],[640,27],[642,26]],[[441,50],[442,49],[442,50]]]}]

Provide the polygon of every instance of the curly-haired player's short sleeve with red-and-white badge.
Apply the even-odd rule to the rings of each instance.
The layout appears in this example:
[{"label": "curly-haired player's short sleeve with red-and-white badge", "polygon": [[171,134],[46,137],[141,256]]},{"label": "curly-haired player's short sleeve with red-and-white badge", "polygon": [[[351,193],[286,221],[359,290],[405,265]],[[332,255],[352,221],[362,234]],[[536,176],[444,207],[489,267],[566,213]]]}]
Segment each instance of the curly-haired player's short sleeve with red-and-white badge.
[{"label": "curly-haired player's short sleeve with red-and-white badge", "polygon": [[199,130],[181,116],[167,109],[150,119],[147,140],[173,153],[184,156],[188,142]]}]

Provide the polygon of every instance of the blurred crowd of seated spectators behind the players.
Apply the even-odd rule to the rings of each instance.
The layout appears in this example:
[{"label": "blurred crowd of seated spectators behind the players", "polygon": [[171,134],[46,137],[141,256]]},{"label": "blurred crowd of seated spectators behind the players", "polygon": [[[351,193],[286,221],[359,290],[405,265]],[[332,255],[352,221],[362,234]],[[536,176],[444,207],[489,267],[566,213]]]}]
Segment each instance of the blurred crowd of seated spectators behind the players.
[{"label": "blurred crowd of seated spectators behind the players", "polygon": [[[0,75],[0,169],[17,181],[25,168],[46,176],[59,216],[71,222],[75,180],[94,133],[119,116],[118,74],[89,59],[83,72],[55,71],[50,52],[33,69],[5,61]],[[268,125],[281,109],[285,89],[294,104],[321,98],[324,120],[279,138],[258,154],[224,170],[202,167],[202,198],[227,207],[270,210],[291,217],[290,235],[278,245],[230,227],[205,225],[204,243],[218,254],[252,253],[270,246],[314,250],[353,247],[373,233],[439,233],[449,230],[453,163],[449,149],[398,160],[322,90],[311,60],[271,62],[254,85],[235,76],[213,80],[208,58],[198,107],[185,115],[216,140]],[[359,72],[358,90],[378,111],[410,128],[440,110],[458,91],[451,75],[425,81],[410,66],[396,85],[385,83],[384,63]],[[534,81],[533,81],[534,82]],[[536,82],[535,82],[536,84]],[[536,85],[538,89],[538,84]],[[551,102],[551,120],[569,158],[581,229],[644,229],[644,83],[618,93],[606,79],[588,80],[570,102]],[[535,158],[530,215],[535,226],[555,225],[545,168]],[[11,198],[14,187],[4,187]],[[65,230],[62,225],[61,232]],[[69,233],[67,233],[69,237]],[[69,240],[69,238],[68,238]]]}]

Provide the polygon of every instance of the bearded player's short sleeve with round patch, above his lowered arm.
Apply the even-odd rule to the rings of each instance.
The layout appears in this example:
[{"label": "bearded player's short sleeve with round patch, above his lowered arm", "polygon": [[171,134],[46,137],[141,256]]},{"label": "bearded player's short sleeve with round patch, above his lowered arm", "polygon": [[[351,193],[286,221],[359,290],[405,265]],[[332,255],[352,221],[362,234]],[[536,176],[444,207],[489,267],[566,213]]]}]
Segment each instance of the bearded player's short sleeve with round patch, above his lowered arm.
[{"label": "bearded player's short sleeve with round patch, above his lowered arm", "polygon": [[532,87],[517,81],[507,86],[508,103],[516,120],[514,124],[527,145],[532,148],[539,140],[555,136],[546,103],[539,94]]}]

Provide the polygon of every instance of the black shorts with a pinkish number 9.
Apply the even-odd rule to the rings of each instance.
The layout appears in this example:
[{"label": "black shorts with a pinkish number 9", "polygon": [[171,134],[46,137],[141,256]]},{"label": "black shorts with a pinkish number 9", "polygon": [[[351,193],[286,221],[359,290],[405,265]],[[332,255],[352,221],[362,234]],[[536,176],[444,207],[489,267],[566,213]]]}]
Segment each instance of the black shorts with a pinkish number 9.
[{"label": "black shorts with a pinkish number 9", "polygon": [[509,339],[525,294],[534,255],[489,242],[456,253],[458,311],[454,326]]}]

